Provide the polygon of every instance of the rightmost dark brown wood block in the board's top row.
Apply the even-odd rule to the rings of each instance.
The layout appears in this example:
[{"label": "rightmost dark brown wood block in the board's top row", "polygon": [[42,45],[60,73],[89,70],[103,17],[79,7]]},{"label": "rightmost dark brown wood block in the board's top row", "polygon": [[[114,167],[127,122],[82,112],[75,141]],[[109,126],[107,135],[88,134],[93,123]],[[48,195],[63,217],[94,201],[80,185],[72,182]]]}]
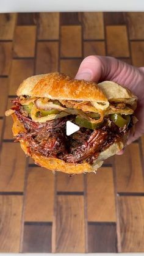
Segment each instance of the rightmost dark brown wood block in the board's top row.
[{"label": "rightmost dark brown wood block in the board's top row", "polygon": [[126,14],[124,12],[104,12],[104,24],[124,25],[126,24]]}]

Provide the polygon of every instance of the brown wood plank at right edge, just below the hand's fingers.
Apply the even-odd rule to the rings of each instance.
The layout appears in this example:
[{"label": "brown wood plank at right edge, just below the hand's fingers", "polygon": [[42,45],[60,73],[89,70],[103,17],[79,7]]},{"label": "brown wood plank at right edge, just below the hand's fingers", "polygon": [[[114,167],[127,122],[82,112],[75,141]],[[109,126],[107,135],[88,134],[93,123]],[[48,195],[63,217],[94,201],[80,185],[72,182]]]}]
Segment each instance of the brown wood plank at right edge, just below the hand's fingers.
[{"label": "brown wood plank at right edge, just below the hand's fingers", "polygon": [[118,192],[144,192],[139,144],[129,145],[123,155],[115,156]]}]

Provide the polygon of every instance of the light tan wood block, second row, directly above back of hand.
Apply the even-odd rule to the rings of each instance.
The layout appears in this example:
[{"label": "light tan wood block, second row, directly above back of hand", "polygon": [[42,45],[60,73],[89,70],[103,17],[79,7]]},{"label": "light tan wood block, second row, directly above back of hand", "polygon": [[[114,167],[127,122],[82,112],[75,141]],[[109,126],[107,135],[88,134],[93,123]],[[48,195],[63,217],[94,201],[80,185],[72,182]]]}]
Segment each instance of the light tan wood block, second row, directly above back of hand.
[{"label": "light tan wood block, second row, directly above back of hand", "polygon": [[113,57],[129,57],[126,26],[106,26],[107,54]]}]

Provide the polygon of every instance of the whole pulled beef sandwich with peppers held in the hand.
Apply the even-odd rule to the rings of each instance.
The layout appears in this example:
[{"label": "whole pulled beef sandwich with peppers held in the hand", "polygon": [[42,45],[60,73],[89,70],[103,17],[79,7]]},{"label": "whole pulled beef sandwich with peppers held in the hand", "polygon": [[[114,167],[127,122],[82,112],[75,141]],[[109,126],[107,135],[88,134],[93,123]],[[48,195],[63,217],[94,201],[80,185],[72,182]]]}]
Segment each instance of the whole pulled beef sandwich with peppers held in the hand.
[{"label": "whole pulled beef sandwich with peppers held in the hand", "polygon": [[[35,164],[68,174],[95,172],[120,152],[134,128],[137,97],[112,81],[99,84],[62,73],[27,78],[18,88],[13,136]],[[80,127],[67,136],[67,121]]]}]

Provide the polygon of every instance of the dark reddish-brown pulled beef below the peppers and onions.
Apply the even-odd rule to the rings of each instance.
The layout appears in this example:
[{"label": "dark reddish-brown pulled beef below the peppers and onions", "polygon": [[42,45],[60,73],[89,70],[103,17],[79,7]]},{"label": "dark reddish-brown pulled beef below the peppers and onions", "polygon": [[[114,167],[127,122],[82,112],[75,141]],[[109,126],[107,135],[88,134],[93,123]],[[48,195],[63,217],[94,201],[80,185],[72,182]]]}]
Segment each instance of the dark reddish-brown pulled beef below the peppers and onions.
[{"label": "dark reddish-brown pulled beef below the peppers and onions", "polygon": [[[15,114],[23,123],[26,132],[19,133],[16,141],[23,139],[29,142],[29,153],[39,153],[46,157],[56,157],[67,163],[92,164],[98,158],[99,153],[104,151],[113,142],[119,141],[129,130],[129,126],[119,128],[115,123],[104,117],[103,126],[97,130],[80,128],[71,136],[66,135],[66,122],[73,122],[74,116],[62,117],[45,123],[36,123],[31,117],[26,117],[21,112],[18,100],[13,101]],[[109,125],[109,122],[111,125]]]}]

